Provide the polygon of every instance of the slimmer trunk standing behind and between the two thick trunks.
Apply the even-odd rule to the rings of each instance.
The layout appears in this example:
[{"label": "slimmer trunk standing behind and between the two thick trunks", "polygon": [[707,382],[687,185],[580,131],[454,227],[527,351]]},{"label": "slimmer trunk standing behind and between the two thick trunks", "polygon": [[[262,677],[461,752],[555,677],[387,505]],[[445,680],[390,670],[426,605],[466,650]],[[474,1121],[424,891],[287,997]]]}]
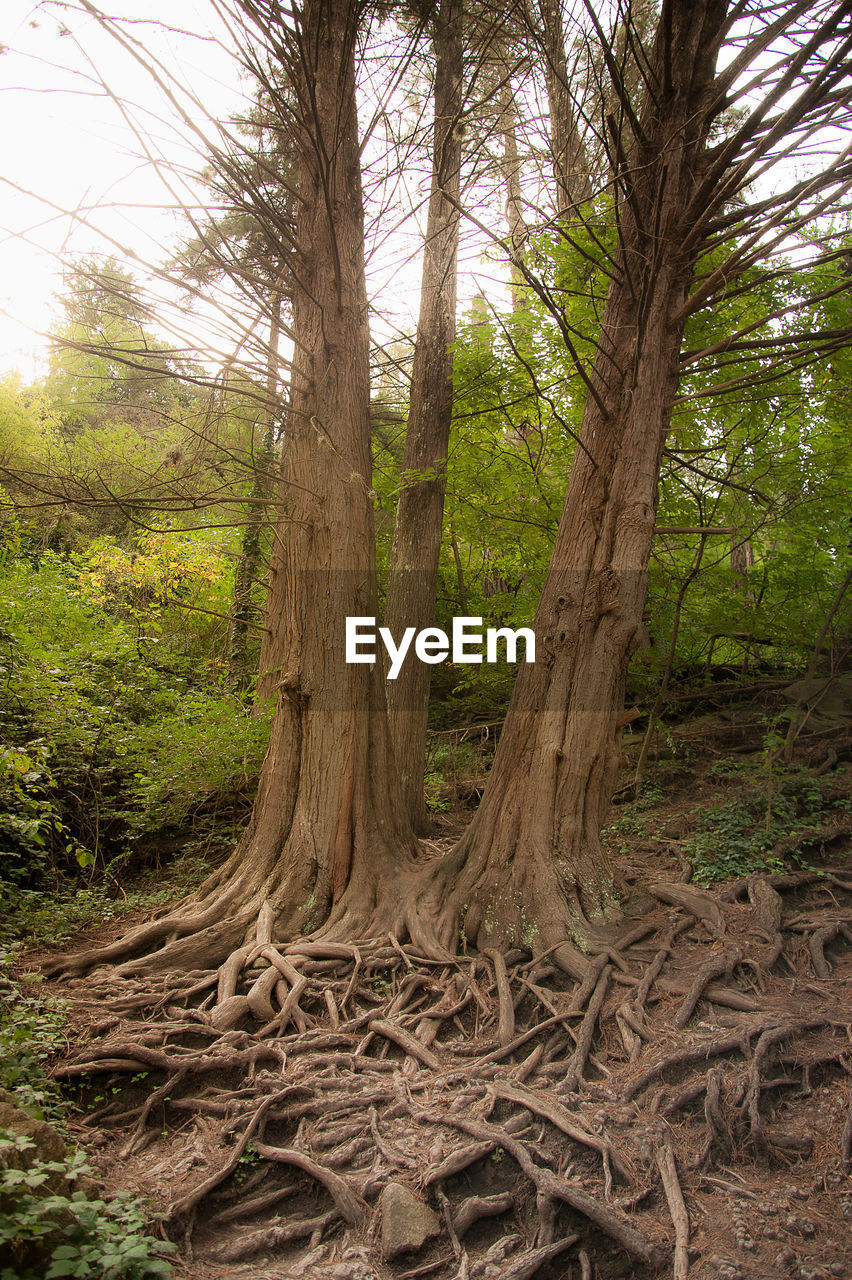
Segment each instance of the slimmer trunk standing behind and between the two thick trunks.
[{"label": "slimmer trunk standing behind and between the two thick trunks", "polygon": [[[420,319],[403,454],[404,484],[390,552],[385,625],[394,636],[435,618],[453,417],[453,343],[462,142],[462,4],[441,0],[434,26],[435,125]],[[431,668],[409,659],[388,682],[399,777],[414,827],[426,826],[423,772]]]}]

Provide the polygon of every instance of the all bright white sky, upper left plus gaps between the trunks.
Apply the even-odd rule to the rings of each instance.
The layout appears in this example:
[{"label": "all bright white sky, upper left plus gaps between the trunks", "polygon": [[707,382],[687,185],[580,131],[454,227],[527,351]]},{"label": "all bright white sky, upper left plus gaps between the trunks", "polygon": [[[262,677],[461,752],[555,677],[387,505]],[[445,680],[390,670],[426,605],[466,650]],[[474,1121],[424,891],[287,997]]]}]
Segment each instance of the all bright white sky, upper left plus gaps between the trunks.
[{"label": "all bright white sky, upper left plus gaps between the trunks", "polygon": [[[159,148],[168,166],[185,164],[197,172],[205,154],[201,142],[193,150],[182,141],[187,129],[175,125],[174,106],[145,68],[81,13],[84,3],[0,0],[0,45],[6,49],[0,56],[0,376],[17,369],[27,380],[43,370],[43,333],[61,288],[61,256],[113,251],[120,260],[136,253],[137,274],[143,275],[142,264],[168,259],[185,234],[185,220],[174,211],[175,193],[156,165],[141,159],[139,138]],[[107,12],[133,18],[122,31],[184,87],[182,106],[207,134],[211,120],[246,110],[228,33],[210,0],[114,0]],[[164,13],[171,29],[162,24]],[[381,58],[370,74],[376,68],[380,81]],[[120,96],[127,115],[101,77]],[[363,124],[372,114],[368,87],[361,106]],[[381,159],[377,163],[381,168]],[[371,297],[384,312],[374,324],[381,342],[393,340],[400,326],[411,333],[416,321],[426,193],[418,189],[420,178],[404,175],[403,198],[421,206],[414,218],[400,227],[389,211],[374,239],[368,275]],[[178,195],[197,198],[187,188]],[[468,224],[462,232],[459,296],[469,298],[494,271],[484,273],[482,236]],[[498,296],[504,292],[499,275],[493,285]],[[215,333],[221,317],[200,320],[196,314],[193,323],[201,340],[220,353],[239,340],[235,330]]]}]

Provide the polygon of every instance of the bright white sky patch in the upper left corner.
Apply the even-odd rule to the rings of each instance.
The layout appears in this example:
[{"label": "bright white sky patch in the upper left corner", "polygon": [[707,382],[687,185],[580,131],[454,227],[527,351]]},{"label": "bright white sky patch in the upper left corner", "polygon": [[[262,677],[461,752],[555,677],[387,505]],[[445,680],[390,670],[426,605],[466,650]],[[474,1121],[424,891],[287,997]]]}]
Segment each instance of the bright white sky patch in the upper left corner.
[{"label": "bright white sky patch in the upper left corner", "polygon": [[[128,120],[99,84],[109,78],[146,133],[170,160],[193,163],[177,134],[160,125],[162,100],[151,77],[122,54],[95,22],[33,0],[0,5],[0,374],[38,370],[50,328],[51,297],[60,287],[58,255],[109,248],[105,236],[142,261],[164,257],[178,238],[174,204],[152,164],[139,159]],[[124,0],[118,12],[138,19],[133,33],[146,51],[179,69],[206,109],[226,115],[242,104],[237,67],[210,38],[207,0]],[[111,9],[110,12],[116,12]],[[164,12],[173,27],[166,32]],[[87,65],[87,60],[91,64]],[[72,70],[74,69],[74,70]],[[201,116],[201,113],[197,113]],[[43,200],[49,197],[55,209]],[[79,216],[74,216],[74,210]]]}]

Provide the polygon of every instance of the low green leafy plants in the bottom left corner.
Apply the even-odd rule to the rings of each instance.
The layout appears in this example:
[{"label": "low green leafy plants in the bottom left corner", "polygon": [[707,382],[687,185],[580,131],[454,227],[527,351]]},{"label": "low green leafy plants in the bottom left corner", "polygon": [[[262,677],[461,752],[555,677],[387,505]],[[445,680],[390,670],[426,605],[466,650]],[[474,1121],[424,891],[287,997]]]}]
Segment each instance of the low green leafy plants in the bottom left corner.
[{"label": "low green leafy plants in the bottom left corner", "polygon": [[[0,1249],[14,1260],[0,1280],[147,1280],[170,1276],[175,1251],[147,1234],[130,1197],[90,1199],[74,1183],[92,1172],[82,1153],[68,1161],[32,1158],[29,1138],[0,1129]],[[8,1162],[8,1164],[6,1164]],[[17,1164],[23,1167],[15,1167]],[[52,1190],[54,1187],[63,1190]]]}]

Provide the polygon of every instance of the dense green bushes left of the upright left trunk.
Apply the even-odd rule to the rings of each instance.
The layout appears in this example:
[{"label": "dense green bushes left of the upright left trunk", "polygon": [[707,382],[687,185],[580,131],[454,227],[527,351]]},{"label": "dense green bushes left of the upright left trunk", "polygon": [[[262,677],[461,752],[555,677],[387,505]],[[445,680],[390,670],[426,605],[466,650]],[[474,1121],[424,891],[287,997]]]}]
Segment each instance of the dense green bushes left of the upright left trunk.
[{"label": "dense green bushes left of the upright left trunk", "polygon": [[[200,544],[164,544],[143,541],[141,581],[191,573],[197,589],[220,572]],[[198,666],[185,622],[162,602],[143,609],[133,588],[119,599],[118,570],[106,595],[107,545],[0,566],[0,878],[22,888],[237,818],[266,750],[269,716]]]}]

